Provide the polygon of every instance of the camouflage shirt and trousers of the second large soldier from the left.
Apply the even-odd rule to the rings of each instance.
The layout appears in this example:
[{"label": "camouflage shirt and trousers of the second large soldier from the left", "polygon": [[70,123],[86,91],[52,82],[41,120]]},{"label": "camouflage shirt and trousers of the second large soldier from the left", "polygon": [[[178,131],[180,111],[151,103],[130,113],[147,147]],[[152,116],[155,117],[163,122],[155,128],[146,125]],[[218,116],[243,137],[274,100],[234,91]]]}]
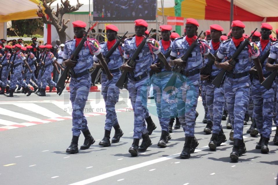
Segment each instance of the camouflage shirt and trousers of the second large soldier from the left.
[{"label": "camouflage shirt and trousers of the second large soldier from the left", "polygon": [[[100,52],[103,56],[109,51],[107,48],[107,42],[100,43]],[[109,57],[109,62],[107,64],[108,69],[111,74],[113,74],[113,79],[108,80],[107,75],[104,70],[101,73],[101,93],[103,95],[103,99],[105,101],[105,109],[106,109],[106,119],[105,119],[105,130],[112,129],[112,126],[115,127],[118,125],[118,119],[115,111],[115,105],[119,100],[120,90],[116,87],[116,82],[121,76],[121,72],[119,68],[122,65],[123,59],[123,47],[119,45],[117,49],[112,53]],[[94,56],[94,61],[97,62],[98,58]]]}]

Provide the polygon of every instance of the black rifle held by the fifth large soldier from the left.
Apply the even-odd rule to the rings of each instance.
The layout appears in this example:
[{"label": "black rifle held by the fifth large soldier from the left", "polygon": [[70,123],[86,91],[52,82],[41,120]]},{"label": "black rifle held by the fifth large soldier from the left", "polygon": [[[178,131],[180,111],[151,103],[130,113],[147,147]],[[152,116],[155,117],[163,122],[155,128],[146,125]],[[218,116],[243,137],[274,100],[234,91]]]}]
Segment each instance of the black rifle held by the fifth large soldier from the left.
[{"label": "black rifle held by the fifth large soldier from the left", "polygon": [[[182,61],[185,61],[185,62],[187,61],[187,59],[191,55],[191,52],[197,45],[198,39],[200,38],[202,33],[203,33],[203,31],[201,31],[201,33],[198,35],[196,40],[191,44],[191,46],[187,49],[186,53],[181,57]],[[175,85],[178,74],[182,74],[184,72],[184,69],[185,69],[185,67],[175,65],[174,68],[172,69],[173,75],[171,76],[170,80],[168,81],[168,83],[166,84],[165,87],[167,87],[167,88],[172,87],[171,89],[173,90],[173,87]]]}]

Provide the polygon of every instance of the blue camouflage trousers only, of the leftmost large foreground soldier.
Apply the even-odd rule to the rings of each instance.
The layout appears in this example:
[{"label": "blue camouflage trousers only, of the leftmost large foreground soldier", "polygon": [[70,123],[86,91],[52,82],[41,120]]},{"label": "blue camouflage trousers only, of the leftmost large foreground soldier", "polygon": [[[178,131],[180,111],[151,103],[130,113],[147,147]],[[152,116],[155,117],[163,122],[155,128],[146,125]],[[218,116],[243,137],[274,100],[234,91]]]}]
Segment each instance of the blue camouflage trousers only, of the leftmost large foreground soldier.
[{"label": "blue camouflage trousers only, of the leftmost large foreground soldier", "polygon": [[91,75],[87,74],[80,79],[71,78],[69,83],[69,96],[72,102],[72,135],[79,136],[88,130],[84,108],[91,87]]}]

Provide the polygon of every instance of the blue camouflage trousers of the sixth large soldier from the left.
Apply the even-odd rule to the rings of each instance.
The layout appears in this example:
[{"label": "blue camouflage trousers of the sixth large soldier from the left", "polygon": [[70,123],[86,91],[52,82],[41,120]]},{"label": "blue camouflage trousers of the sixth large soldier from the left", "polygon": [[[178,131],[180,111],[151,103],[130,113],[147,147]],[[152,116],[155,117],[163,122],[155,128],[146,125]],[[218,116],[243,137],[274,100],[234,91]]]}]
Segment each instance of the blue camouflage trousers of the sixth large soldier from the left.
[{"label": "blue camouflage trousers of the sixth large soldier from the left", "polygon": [[225,104],[224,89],[217,88],[212,81],[205,81],[203,87],[206,91],[206,104],[208,106],[209,115],[213,122],[213,133],[219,134],[222,129],[222,113]]}]

